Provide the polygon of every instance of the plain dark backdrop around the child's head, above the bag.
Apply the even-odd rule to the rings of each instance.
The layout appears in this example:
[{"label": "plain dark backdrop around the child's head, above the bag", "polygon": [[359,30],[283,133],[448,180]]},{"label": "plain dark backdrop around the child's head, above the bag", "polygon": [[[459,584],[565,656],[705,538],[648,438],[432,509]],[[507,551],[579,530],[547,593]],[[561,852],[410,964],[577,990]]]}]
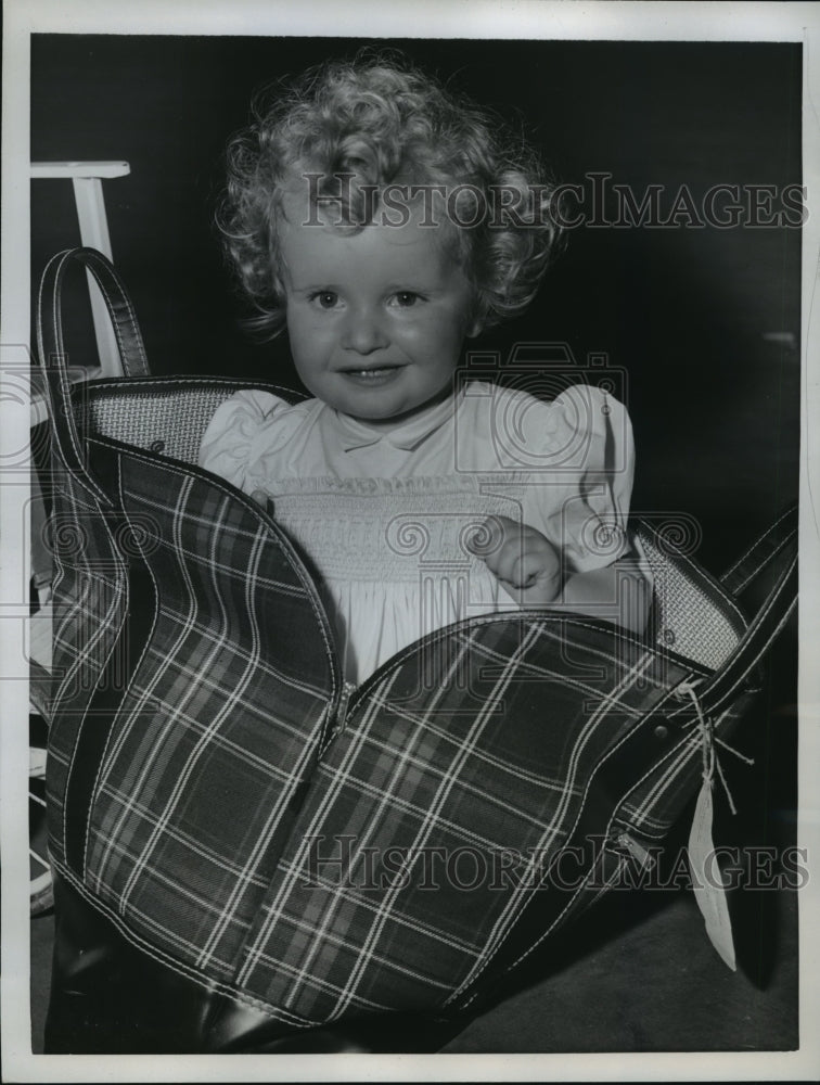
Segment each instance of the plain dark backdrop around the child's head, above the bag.
[{"label": "plain dark backdrop around the child's head, above the bag", "polygon": [[[157,373],[293,383],[285,339],[249,341],[212,226],[229,133],[254,89],[355,39],[34,36],[31,158],[124,158],[104,183],[115,261]],[[800,47],[790,43],[389,41],[495,107],[556,179],[800,182]],[[72,186],[33,189],[33,278],[78,243]],[[682,511],[721,570],[797,494],[799,230],[579,228],[524,318],[474,347],[566,342],[626,370],[633,508]],[[78,282],[78,302],[80,299]],[[78,304],[75,307],[80,312]],[[76,324],[76,328],[74,327]],[[75,355],[87,340],[68,328]],[[764,339],[787,333],[792,344]],[[80,359],[81,360],[81,359]]]}]

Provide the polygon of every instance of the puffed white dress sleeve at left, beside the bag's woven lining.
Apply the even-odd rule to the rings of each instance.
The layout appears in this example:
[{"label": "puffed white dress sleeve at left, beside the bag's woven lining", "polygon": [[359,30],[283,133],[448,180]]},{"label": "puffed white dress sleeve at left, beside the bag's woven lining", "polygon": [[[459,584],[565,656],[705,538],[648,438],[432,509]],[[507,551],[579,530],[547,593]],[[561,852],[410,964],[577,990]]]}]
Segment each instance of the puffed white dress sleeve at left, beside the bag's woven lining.
[{"label": "puffed white dress sleeve at left, beside the bag's woven lining", "polygon": [[216,409],[200,445],[200,465],[245,493],[265,488],[264,460],[276,455],[302,421],[270,392],[236,392]]}]

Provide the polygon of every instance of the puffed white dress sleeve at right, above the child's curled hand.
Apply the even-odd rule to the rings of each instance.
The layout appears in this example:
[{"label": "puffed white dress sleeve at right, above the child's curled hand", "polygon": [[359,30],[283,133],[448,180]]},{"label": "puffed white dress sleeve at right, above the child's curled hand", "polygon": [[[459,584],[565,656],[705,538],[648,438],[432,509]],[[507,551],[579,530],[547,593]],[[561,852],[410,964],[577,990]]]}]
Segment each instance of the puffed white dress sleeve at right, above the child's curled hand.
[{"label": "puffed white dress sleeve at right, above the child's curled hand", "polygon": [[[540,531],[586,573],[627,549],[635,474],[632,425],[626,408],[592,385],[573,385],[527,422],[541,456],[523,494],[525,523]],[[531,446],[530,446],[531,447]]]}]

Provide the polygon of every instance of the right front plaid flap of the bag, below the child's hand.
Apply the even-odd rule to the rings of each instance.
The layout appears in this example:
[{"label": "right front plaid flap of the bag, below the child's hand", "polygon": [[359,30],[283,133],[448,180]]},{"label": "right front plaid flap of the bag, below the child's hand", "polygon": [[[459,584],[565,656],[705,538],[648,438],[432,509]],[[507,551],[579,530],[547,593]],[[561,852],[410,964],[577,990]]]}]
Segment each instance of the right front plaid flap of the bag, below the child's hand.
[{"label": "right front plaid flap of the bag, below the child's hand", "polygon": [[554,617],[473,620],[427,648],[431,682],[418,650],[388,666],[318,766],[238,972],[273,1013],[316,1024],[458,999],[595,767],[667,692],[640,643],[613,652]]}]

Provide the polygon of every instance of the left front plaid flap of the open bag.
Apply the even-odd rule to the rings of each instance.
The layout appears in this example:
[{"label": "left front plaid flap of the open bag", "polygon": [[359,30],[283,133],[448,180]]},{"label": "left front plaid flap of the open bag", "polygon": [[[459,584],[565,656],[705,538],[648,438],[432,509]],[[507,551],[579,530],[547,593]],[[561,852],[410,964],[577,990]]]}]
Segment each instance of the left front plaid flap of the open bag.
[{"label": "left front plaid flap of the open bag", "polygon": [[328,723],[326,627],[246,502],[134,455],[119,476],[155,586],[137,603],[154,613],[97,777],[85,881],[138,934],[228,979]]}]

